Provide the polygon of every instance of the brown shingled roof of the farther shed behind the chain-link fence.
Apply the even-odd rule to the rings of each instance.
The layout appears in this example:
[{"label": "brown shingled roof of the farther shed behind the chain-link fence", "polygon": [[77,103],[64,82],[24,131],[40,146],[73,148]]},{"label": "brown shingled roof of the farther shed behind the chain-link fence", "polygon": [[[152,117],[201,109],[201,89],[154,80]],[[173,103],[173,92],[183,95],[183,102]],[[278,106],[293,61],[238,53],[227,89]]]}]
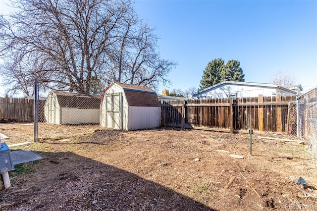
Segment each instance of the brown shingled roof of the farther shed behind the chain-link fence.
[{"label": "brown shingled roof of the farther shed behind the chain-link fence", "polygon": [[52,91],[57,97],[59,106],[76,108],[99,108],[101,96],[84,95],[78,93]]}]

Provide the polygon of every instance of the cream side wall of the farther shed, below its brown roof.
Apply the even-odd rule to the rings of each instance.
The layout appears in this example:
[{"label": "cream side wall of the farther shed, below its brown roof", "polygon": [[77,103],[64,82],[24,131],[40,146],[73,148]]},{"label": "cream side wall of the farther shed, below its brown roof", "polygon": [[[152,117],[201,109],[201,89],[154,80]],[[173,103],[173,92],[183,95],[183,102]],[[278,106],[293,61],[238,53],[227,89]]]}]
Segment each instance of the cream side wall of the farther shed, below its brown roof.
[{"label": "cream side wall of the farther shed, below its brown roof", "polygon": [[99,123],[99,109],[61,108],[61,124]]}]

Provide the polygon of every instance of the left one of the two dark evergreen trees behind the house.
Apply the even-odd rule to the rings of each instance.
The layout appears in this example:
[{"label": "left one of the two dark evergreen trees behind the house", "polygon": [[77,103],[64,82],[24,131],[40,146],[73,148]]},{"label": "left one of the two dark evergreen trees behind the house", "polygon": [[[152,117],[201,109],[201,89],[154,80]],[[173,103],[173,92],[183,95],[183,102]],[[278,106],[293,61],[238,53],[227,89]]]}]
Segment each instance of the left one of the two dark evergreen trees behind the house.
[{"label": "left one of the two dark evergreen trees behind the house", "polygon": [[206,89],[214,84],[217,84],[221,80],[221,72],[224,69],[224,60],[222,58],[215,58],[210,61],[200,81],[199,90]]}]

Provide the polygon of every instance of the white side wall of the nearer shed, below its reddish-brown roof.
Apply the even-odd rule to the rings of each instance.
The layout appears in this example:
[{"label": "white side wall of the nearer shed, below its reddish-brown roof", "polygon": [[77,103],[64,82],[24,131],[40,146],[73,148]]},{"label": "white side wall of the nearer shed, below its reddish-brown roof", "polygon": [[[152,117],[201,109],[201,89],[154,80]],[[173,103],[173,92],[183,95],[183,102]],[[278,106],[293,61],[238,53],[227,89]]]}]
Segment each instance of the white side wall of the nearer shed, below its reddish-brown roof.
[{"label": "white side wall of the nearer shed, below its reddish-brown roof", "polygon": [[138,130],[159,127],[160,107],[129,107],[129,128]]}]

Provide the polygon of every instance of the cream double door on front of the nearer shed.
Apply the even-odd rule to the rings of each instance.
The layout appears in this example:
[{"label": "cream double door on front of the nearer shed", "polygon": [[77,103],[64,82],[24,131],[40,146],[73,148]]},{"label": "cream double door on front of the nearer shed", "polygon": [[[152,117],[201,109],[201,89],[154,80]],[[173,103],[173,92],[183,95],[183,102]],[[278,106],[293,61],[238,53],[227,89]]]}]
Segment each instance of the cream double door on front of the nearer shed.
[{"label": "cream double door on front of the nearer shed", "polygon": [[106,127],[122,129],[121,93],[106,95]]}]

